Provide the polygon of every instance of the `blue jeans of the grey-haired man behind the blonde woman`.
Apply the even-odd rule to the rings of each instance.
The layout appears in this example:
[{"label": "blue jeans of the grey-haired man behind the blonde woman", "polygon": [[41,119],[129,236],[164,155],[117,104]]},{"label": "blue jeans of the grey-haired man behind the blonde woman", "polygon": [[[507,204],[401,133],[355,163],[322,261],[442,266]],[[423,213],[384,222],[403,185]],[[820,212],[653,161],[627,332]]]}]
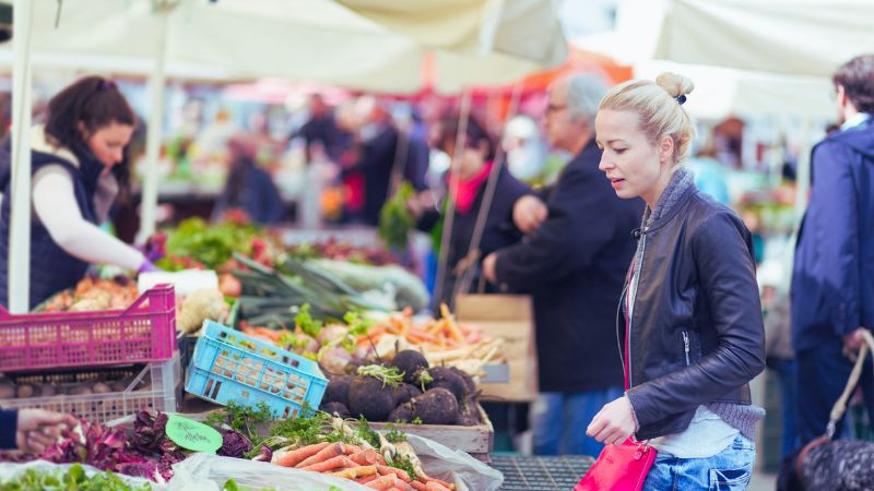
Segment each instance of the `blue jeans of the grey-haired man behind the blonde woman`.
[{"label": "blue jeans of the grey-haired man behind the blonde woman", "polygon": [[604,445],[586,435],[594,415],[622,397],[619,387],[600,391],[542,392],[531,408],[534,455],[589,455],[598,457]]}]

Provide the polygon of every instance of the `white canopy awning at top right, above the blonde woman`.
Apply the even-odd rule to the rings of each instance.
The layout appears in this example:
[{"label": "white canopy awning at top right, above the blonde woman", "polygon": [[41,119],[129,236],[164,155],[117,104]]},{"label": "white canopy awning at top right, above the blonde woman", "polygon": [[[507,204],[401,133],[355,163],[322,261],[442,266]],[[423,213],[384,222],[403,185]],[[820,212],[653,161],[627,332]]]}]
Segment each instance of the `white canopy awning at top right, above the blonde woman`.
[{"label": "white canopy awning at top right, above the blonde woman", "polygon": [[871,0],[673,0],[654,58],[829,77],[874,52]]}]

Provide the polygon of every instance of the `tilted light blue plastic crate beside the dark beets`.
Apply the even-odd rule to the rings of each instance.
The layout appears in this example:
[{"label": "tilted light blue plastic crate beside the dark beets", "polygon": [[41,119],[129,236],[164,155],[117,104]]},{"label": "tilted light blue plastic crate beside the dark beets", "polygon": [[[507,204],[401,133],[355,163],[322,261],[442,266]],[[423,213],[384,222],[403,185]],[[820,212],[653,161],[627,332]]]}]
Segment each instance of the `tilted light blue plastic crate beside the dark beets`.
[{"label": "tilted light blue plastic crate beside the dark beets", "polygon": [[315,361],[206,321],[185,390],[223,406],[263,402],[285,419],[300,414],[304,403],[318,408],[327,386]]}]

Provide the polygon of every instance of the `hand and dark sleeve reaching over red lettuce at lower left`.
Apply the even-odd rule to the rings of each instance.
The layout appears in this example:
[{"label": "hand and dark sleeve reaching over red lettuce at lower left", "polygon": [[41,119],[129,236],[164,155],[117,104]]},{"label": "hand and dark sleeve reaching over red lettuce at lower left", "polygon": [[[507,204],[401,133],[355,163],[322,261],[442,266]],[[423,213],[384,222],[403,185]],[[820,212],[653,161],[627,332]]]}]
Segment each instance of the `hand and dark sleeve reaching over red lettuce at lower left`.
[{"label": "hand and dark sleeve reaching over red lettuce at lower left", "polygon": [[0,451],[19,448],[42,454],[60,435],[60,427],[75,427],[73,416],[43,409],[0,409]]}]

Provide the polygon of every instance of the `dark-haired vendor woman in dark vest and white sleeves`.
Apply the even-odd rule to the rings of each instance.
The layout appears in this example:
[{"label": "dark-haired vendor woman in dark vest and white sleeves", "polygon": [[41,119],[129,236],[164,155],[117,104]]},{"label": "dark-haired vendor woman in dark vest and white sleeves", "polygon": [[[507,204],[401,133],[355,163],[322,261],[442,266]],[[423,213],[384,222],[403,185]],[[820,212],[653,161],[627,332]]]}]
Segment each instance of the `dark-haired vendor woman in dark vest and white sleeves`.
[{"label": "dark-haired vendor woman in dark vest and white sleeves", "polygon": [[[125,148],[135,117],[111,81],[84,77],[48,104],[45,125],[31,130],[33,215],[31,309],[73,287],[90,264],[132,271],[154,266],[131,246],[101,230],[116,197],[127,190]],[[0,152],[0,303],[8,304],[9,139]]]}]

